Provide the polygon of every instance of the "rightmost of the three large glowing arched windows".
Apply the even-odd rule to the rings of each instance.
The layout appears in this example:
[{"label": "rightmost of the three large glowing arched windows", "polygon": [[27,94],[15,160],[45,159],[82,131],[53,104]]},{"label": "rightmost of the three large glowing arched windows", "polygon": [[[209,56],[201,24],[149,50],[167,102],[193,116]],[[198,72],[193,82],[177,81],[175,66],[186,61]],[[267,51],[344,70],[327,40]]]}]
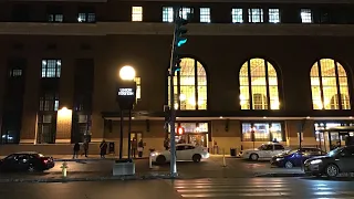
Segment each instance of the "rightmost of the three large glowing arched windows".
[{"label": "rightmost of the three large glowing arched windows", "polygon": [[321,59],[310,77],[313,109],[351,109],[347,75],[339,62]]}]

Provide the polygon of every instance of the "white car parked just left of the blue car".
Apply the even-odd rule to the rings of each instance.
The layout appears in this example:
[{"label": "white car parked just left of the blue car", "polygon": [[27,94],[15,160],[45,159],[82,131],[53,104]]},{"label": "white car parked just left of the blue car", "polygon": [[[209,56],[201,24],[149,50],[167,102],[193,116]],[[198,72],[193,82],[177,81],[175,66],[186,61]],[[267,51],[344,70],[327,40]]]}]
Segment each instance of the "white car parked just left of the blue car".
[{"label": "white car parked just left of the blue car", "polygon": [[240,157],[256,161],[258,159],[271,159],[273,156],[285,151],[289,151],[289,149],[285,149],[281,144],[269,143],[261,145],[259,148],[241,150]]}]

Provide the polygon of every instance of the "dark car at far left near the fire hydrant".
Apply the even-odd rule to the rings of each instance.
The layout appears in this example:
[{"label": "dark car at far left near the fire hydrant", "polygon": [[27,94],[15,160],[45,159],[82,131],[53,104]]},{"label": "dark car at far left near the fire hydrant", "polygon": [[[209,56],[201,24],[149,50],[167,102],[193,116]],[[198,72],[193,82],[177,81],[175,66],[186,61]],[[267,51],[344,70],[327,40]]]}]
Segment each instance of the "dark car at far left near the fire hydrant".
[{"label": "dark car at far left near the fire hydrant", "polygon": [[52,157],[35,151],[11,154],[0,160],[1,171],[43,171],[54,167]]}]

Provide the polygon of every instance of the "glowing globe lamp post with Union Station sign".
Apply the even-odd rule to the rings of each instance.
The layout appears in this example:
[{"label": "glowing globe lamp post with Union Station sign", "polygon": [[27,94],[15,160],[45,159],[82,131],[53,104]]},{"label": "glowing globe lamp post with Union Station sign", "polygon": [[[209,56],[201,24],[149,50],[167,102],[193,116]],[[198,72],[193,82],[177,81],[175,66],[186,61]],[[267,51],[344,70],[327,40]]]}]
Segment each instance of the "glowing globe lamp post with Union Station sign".
[{"label": "glowing globe lamp post with Union Station sign", "polygon": [[123,157],[123,111],[129,111],[129,123],[128,123],[128,159],[131,159],[131,128],[132,128],[132,108],[135,103],[136,96],[136,83],[135,70],[129,65],[125,65],[119,70],[119,91],[118,91],[118,102],[121,107],[121,137],[119,137],[119,159]]}]

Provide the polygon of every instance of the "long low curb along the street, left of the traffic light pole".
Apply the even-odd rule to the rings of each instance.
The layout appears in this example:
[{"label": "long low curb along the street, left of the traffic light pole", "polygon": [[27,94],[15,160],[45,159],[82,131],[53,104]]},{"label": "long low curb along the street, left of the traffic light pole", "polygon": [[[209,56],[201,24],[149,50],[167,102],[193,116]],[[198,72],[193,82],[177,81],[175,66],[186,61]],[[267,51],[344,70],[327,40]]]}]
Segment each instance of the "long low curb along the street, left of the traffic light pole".
[{"label": "long low curb along the street, left of the traffic light pole", "polygon": [[110,176],[88,178],[39,178],[39,179],[0,179],[3,182],[72,182],[72,181],[103,181],[103,180],[152,180],[152,179],[179,179],[170,175],[147,175],[147,176]]}]

